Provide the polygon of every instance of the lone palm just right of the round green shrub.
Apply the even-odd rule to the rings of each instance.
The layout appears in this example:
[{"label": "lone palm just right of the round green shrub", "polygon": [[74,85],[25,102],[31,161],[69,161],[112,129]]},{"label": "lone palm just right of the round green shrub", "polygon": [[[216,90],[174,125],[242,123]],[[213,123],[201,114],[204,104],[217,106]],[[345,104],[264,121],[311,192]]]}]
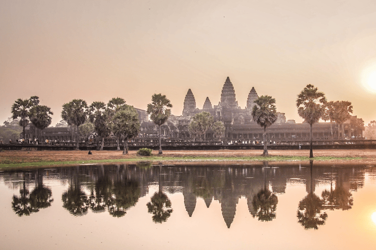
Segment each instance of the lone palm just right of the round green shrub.
[{"label": "lone palm just right of the round green shrub", "polygon": [[161,125],[163,125],[171,115],[171,109],[168,109],[167,107],[172,107],[172,104],[170,103],[170,100],[162,94],[154,94],[151,97],[151,104],[147,104],[146,113],[150,115],[150,119],[154,124],[158,125],[159,154],[162,154]]}]

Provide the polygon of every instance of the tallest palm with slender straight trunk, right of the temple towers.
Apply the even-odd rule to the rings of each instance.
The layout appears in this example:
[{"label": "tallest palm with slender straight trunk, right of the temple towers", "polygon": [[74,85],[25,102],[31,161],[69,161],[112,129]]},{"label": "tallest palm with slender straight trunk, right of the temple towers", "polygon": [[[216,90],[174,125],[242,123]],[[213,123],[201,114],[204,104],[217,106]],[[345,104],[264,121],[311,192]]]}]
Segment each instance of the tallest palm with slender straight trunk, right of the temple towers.
[{"label": "tallest palm with slender straight trunk, right of the temple towers", "polygon": [[308,84],[298,95],[296,106],[298,114],[309,124],[309,158],[313,158],[312,125],[317,123],[324,114],[325,94]]}]

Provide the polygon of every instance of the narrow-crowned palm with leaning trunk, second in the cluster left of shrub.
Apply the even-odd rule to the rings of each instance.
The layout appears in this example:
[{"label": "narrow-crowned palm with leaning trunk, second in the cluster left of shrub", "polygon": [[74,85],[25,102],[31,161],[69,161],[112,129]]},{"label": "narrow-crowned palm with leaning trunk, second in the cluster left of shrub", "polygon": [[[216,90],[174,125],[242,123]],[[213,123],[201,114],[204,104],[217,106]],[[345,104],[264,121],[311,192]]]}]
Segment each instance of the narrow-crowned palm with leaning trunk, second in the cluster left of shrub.
[{"label": "narrow-crowned palm with leaning trunk, second in the cluster left of shrub", "polygon": [[103,102],[92,103],[89,107],[89,119],[94,124],[96,133],[102,139],[100,150],[103,150],[104,138],[111,134],[110,114],[106,104]]}]

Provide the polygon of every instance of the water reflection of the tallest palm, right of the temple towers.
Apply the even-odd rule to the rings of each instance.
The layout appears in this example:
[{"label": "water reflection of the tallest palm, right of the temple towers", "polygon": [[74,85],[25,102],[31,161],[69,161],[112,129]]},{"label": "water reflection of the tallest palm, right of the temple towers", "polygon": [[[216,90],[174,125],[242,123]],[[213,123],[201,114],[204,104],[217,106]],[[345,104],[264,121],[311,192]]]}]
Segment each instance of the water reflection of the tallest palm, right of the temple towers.
[{"label": "water reflection of the tallest palm, right of the temple towers", "polygon": [[299,202],[298,207],[298,222],[304,226],[305,229],[318,229],[317,226],[325,224],[328,214],[321,212],[324,209],[323,200],[313,193],[313,178],[312,168],[313,161],[310,162],[310,192],[303,200]]}]

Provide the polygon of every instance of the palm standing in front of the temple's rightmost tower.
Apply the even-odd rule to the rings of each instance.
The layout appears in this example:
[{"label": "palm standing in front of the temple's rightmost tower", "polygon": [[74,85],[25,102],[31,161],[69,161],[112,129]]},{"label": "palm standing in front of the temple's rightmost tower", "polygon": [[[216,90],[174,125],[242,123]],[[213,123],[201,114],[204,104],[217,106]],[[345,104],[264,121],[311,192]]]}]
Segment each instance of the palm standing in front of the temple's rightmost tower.
[{"label": "palm standing in front of the temple's rightmost tower", "polygon": [[261,127],[264,128],[263,141],[264,151],[262,155],[268,155],[268,147],[266,142],[266,128],[277,121],[277,108],[276,99],[271,96],[260,96],[254,101],[256,104],[252,108],[253,120]]}]

